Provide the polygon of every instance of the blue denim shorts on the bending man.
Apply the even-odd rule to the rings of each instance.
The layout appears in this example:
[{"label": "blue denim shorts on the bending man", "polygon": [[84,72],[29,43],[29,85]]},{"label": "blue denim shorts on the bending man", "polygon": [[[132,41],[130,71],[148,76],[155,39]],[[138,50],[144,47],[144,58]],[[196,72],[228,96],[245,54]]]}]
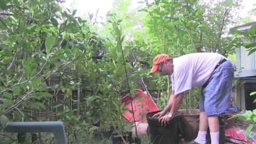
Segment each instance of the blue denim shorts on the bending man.
[{"label": "blue denim shorts on the bending man", "polygon": [[202,87],[200,111],[205,111],[207,116],[228,111],[233,77],[234,68],[229,60],[213,71],[210,79]]}]

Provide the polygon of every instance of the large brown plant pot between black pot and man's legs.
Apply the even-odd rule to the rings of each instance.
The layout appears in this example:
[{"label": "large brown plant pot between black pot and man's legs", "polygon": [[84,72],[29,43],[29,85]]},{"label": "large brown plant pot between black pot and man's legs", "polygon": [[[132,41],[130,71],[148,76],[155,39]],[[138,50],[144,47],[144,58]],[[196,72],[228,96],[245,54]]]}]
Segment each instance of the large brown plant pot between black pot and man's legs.
[{"label": "large brown plant pot between black pot and man's legs", "polygon": [[186,141],[196,139],[199,131],[199,109],[191,109],[188,114],[187,109],[180,109],[180,132]]}]

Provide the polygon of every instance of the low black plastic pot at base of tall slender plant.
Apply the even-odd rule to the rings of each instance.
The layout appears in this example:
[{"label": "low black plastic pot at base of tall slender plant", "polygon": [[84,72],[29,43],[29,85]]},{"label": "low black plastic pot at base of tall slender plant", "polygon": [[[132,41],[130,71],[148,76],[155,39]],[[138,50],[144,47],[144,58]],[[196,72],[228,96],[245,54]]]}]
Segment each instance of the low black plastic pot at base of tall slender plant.
[{"label": "low black plastic pot at base of tall slender plant", "polygon": [[[136,138],[136,137],[123,137],[123,138],[127,143],[136,143],[136,144],[141,143],[140,138]],[[111,137],[111,139],[113,144],[124,144],[123,139],[115,134]]]}]

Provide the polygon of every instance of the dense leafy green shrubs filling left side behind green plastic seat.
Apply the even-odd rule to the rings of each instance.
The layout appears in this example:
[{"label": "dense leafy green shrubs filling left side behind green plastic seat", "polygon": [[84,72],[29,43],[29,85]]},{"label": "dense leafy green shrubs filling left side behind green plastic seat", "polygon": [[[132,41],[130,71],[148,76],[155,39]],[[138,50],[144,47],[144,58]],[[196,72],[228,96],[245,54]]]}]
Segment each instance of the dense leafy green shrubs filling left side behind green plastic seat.
[{"label": "dense leafy green shrubs filling left side behind green plastic seat", "polygon": [[[95,69],[102,68],[102,64],[97,65],[92,55],[103,49],[103,39],[91,29],[90,22],[74,17],[76,10],[62,10],[61,2],[1,1],[1,8],[6,8],[4,15],[0,15],[0,42],[3,42],[0,45],[0,121],[3,126],[9,118],[38,121],[38,111],[54,114],[55,110],[72,103],[71,107],[79,108],[77,114],[69,114],[65,109],[67,113],[54,114],[55,120],[61,119],[70,126],[69,134],[87,127],[81,121],[81,115],[87,118],[83,115],[87,112],[83,111],[83,99],[77,101],[71,94],[81,87],[85,93],[101,86],[102,69]],[[65,96],[63,100],[59,98],[60,92]],[[57,97],[60,100],[54,102]],[[72,124],[76,126],[71,127]]]}]

